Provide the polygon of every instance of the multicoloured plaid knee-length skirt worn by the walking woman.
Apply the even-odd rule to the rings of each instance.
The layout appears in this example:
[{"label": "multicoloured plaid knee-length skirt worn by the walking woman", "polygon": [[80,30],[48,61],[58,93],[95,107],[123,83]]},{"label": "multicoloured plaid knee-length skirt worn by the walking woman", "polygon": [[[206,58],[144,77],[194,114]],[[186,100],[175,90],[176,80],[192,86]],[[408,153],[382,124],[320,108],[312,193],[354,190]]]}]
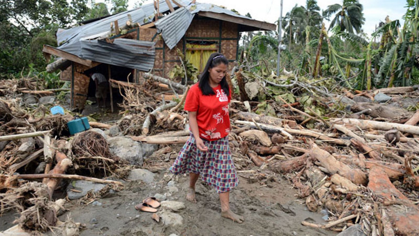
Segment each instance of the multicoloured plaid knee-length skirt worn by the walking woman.
[{"label": "multicoloured plaid knee-length skirt worn by the walking woman", "polygon": [[217,193],[228,192],[238,184],[237,173],[231,158],[228,136],[215,141],[203,140],[208,151],[197,148],[191,135],[176,158],[170,171],[173,174],[195,173],[202,181],[215,187]]}]

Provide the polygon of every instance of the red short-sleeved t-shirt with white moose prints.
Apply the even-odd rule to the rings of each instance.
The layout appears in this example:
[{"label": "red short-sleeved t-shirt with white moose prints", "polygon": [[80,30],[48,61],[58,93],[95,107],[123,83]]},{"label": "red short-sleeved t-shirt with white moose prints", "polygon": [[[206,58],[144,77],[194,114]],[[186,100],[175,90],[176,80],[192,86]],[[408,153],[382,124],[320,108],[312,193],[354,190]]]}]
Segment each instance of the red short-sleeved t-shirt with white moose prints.
[{"label": "red short-sleeved t-shirt with white moose prints", "polygon": [[197,112],[199,137],[209,141],[218,140],[230,133],[228,104],[231,100],[218,85],[212,88],[215,95],[204,96],[199,83],[194,84],[186,95],[184,110]]}]

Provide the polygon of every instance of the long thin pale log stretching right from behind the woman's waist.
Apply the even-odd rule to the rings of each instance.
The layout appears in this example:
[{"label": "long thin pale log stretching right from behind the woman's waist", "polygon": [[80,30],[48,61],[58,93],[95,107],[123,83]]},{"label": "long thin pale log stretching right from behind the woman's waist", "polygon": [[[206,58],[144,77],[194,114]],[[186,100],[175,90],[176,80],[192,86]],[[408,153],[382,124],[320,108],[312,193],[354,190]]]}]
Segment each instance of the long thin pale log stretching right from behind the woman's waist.
[{"label": "long thin pale log stretching right from behind the woman's waist", "polygon": [[[248,125],[248,126],[253,127],[253,128],[257,128],[256,125],[253,122],[236,120],[234,123],[235,124],[244,124],[244,125]],[[339,145],[349,145],[350,144],[349,140],[341,140],[341,139],[328,137],[326,135],[323,135],[321,133],[314,132],[314,131],[311,131],[311,130],[296,130],[296,129],[281,128],[281,127],[277,127],[277,126],[273,126],[273,125],[269,125],[269,124],[261,124],[261,123],[256,123],[256,124],[262,130],[274,131],[274,132],[278,132],[278,131],[279,132],[284,132],[285,131],[285,135],[287,135],[287,136],[290,135],[290,134],[306,135],[306,136],[311,136],[311,137],[318,138],[320,140],[328,141],[330,143],[339,144]]]}]

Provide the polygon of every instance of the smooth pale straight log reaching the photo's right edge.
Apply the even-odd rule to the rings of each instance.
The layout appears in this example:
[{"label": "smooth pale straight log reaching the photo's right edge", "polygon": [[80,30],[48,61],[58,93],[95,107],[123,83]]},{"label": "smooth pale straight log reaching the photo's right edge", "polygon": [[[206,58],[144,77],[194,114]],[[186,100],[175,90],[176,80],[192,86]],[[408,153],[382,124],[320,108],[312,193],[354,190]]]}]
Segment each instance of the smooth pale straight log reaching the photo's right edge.
[{"label": "smooth pale straight log reaching the photo's right edge", "polygon": [[407,124],[397,124],[391,122],[380,122],[374,120],[362,120],[362,119],[348,119],[348,118],[334,118],[331,122],[338,124],[348,124],[348,126],[360,127],[361,129],[373,129],[373,130],[392,130],[396,128],[398,131],[419,135],[419,127]]}]

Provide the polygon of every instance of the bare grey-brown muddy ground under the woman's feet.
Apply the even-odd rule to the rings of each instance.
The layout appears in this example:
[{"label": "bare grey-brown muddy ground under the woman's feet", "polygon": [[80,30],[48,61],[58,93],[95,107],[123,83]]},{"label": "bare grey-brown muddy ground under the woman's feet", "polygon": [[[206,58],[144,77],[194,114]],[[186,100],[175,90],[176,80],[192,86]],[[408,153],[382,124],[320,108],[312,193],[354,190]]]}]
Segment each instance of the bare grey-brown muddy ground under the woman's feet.
[{"label": "bare grey-brown muddy ground under the woman's feet", "polygon": [[[163,173],[155,176],[155,182],[162,180]],[[336,235],[331,231],[318,230],[301,225],[308,220],[324,223],[322,215],[309,212],[305,206],[296,201],[295,191],[284,180],[275,183],[273,188],[261,187],[258,183],[247,184],[241,178],[239,186],[231,193],[232,209],[245,217],[243,224],[233,223],[220,217],[218,195],[212,187],[197,183],[198,203],[186,201],[188,187],[187,176],[173,178],[178,192],[168,196],[167,200],[184,202],[186,209],[178,213],[184,219],[182,226],[165,227],[155,222],[151,213],[134,209],[142,199],[156,193],[168,193],[166,184],[143,184],[131,182],[126,190],[113,197],[98,200],[101,206],[92,204],[85,207],[68,206],[75,222],[86,224],[82,236],[103,235],[153,235],[169,236],[175,233],[181,236],[237,236],[237,235]],[[282,207],[281,207],[282,206]],[[65,219],[66,215],[60,218]]]}]

